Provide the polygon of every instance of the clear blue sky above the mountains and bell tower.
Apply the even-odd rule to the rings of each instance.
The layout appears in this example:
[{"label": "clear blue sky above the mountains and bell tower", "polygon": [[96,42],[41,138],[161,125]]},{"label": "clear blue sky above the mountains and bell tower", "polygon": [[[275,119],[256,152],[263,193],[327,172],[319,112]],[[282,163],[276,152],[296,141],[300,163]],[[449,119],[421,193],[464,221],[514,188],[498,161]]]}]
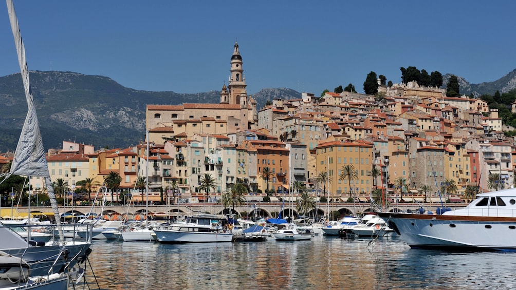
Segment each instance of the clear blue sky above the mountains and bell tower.
[{"label": "clear blue sky above the mountains and bell tower", "polygon": [[[197,93],[228,82],[235,38],[248,94],[363,92],[416,66],[494,81],[516,69],[515,1],[14,1],[28,67]],[[0,76],[19,72],[7,8]]]}]

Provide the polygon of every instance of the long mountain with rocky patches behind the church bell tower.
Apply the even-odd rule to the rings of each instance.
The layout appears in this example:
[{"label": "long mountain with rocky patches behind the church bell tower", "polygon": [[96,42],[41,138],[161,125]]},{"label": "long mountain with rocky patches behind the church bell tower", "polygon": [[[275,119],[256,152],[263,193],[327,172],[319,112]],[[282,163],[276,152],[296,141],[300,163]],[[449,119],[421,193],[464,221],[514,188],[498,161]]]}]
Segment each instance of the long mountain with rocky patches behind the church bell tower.
[{"label": "long mountain with rocky patches behind the church bell tower", "polygon": [[[30,84],[45,148],[63,140],[95,148],[128,147],[144,140],[148,104],[218,103],[220,91],[196,94],[138,91],[104,76],[73,72],[30,72]],[[290,89],[264,89],[253,95],[258,108],[272,97],[300,98]],[[20,74],[0,77],[0,152],[14,150],[27,113]]]}]

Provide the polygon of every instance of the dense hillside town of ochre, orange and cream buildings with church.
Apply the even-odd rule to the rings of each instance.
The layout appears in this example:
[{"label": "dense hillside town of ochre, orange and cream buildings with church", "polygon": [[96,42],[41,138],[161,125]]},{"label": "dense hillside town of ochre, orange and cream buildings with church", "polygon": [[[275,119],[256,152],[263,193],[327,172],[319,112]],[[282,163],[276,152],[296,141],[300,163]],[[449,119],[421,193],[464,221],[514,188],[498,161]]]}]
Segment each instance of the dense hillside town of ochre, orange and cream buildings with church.
[{"label": "dense hillside town of ochre, orange and cream buildings with church", "polygon": [[[497,110],[480,98],[378,79],[377,95],[302,93],[258,109],[237,43],[230,64],[219,104],[147,105],[148,140],[130,148],[63,141],[47,153],[51,179],[74,189],[116,174],[117,191],[142,201],[143,177],[149,201],[165,195],[167,203],[211,201],[236,183],[270,200],[301,187],[332,202],[367,201],[376,189],[397,202],[438,202],[439,192],[448,202],[469,202],[513,186],[516,147]],[[206,189],[207,178],[215,185]],[[41,193],[42,182],[31,178],[31,192]]]}]

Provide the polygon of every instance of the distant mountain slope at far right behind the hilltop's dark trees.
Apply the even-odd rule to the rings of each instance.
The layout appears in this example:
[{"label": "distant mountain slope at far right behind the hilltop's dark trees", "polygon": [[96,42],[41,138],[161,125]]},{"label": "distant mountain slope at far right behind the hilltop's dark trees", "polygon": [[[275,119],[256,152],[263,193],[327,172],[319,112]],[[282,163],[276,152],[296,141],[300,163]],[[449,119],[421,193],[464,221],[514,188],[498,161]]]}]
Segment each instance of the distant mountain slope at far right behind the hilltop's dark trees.
[{"label": "distant mountain slope at far right behind the hilltop's dark trees", "polygon": [[[450,76],[451,74],[446,74],[443,76],[443,86],[441,88],[446,88],[446,84],[448,83]],[[499,91],[503,94],[516,89],[516,70],[513,70],[498,80],[482,82],[479,84],[471,84],[460,76],[457,76],[457,79],[459,80],[459,89],[461,95],[469,96],[471,93],[473,93],[475,97],[478,97],[480,95],[494,95],[496,91]]]}]

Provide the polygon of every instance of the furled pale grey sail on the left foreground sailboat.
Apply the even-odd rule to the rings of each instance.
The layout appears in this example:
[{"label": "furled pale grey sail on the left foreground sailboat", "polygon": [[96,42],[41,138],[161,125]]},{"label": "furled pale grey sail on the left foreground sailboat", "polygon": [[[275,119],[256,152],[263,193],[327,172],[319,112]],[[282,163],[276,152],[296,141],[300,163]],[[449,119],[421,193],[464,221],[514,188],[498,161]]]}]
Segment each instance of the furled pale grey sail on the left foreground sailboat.
[{"label": "furled pale grey sail on the left foreground sailboat", "polygon": [[[36,115],[36,107],[34,105],[34,98],[30,88],[29,70],[25,58],[25,47],[22,41],[20,26],[18,24],[18,18],[14,11],[12,0],[6,0],[6,2],[12,35],[14,37],[14,44],[18,54],[18,63],[20,64],[23,87],[25,89],[25,98],[27,99],[28,106],[27,116],[25,117],[25,123],[23,124],[20,140],[18,141],[18,145],[14,153],[10,173],[16,175],[43,177],[45,179],[52,210],[54,211],[54,215],[59,217],[59,209],[57,207],[54,188],[52,187],[52,180],[50,179],[49,166],[47,165],[45,158],[45,150],[43,148],[43,141],[39,130],[38,116]],[[59,229],[60,240],[63,241],[63,231],[59,218],[56,218],[56,224]]]}]

